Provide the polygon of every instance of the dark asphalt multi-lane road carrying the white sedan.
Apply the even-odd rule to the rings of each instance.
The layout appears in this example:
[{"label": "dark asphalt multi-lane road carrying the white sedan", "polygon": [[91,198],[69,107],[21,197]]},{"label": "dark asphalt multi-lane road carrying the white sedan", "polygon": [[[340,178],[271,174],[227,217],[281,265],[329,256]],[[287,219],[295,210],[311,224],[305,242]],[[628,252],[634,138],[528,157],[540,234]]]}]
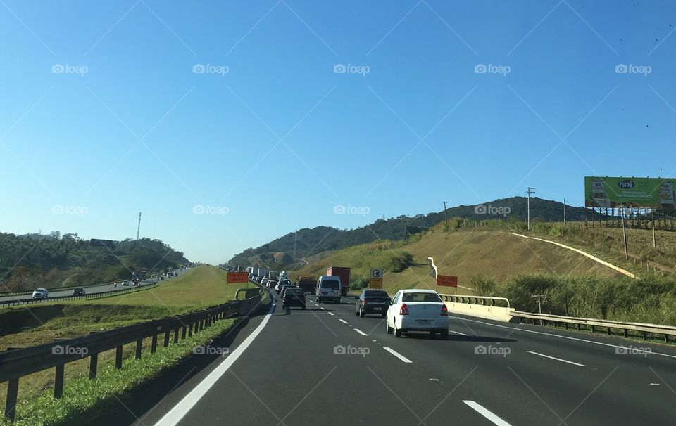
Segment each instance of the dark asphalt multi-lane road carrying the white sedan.
[{"label": "dark asphalt multi-lane road carrying the white sedan", "polygon": [[251,318],[137,424],[676,424],[672,347],[457,316],[448,340],[396,338],[313,300]]}]

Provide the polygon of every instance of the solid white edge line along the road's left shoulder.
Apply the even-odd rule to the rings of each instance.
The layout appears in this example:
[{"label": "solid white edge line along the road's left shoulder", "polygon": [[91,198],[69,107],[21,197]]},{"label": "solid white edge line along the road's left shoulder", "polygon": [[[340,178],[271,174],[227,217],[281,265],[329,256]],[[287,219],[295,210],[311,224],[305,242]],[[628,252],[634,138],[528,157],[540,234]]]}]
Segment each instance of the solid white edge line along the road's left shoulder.
[{"label": "solid white edge line along the road's left shoulder", "polygon": [[211,389],[211,387],[215,384],[215,382],[218,382],[220,377],[222,377],[225,372],[232,366],[234,361],[237,361],[240,355],[244,354],[244,351],[246,351],[246,348],[249,347],[249,345],[253,342],[253,340],[258,337],[259,334],[261,334],[261,331],[263,331],[263,328],[265,328],[265,325],[268,323],[268,320],[270,320],[270,317],[273,314],[273,311],[275,310],[275,306],[277,305],[277,301],[275,297],[273,297],[273,304],[270,306],[270,310],[268,310],[268,314],[265,314],[265,318],[263,318],[263,321],[256,327],[256,330],[253,330],[253,333],[249,335],[249,337],[246,337],[244,339],[244,342],[242,344],[239,344],[239,346],[234,349],[230,353],[230,355],[227,356],[225,361],[222,363],[218,364],[214,370],[209,373],[204,379],[202,379],[201,382],[199,382],[186,396],[183,397],[175,406],[172,408],[168,413],[166,413],[158,422],[155,423],[155,426],[174,426],[177,425],[178,422],[180,422],[185,415],[199,402],[199,400],[206,394],[206,392]]}]

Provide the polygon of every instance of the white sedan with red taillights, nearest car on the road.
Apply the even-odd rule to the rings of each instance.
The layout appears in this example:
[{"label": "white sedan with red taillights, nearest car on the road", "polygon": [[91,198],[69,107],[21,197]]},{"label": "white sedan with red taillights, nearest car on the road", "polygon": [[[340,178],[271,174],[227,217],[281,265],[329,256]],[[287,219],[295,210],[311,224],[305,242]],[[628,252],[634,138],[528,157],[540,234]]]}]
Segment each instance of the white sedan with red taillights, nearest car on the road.
[{"label": "white sedan with red taillights, nearest car on the road", "polygon": [[399,290],[387,309],[387,333],[401,337],[409,331],[427,331],[449,337],[449,310],[434,290]]}]

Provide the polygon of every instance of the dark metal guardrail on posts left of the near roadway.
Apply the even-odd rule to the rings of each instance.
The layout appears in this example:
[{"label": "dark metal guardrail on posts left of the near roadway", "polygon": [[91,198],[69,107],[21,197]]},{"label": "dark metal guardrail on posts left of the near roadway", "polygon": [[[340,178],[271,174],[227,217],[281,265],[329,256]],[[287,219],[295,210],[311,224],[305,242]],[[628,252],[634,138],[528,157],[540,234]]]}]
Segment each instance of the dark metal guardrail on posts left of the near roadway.
[{"label": "dark metal guardrail on posts left of the near roadway", "polygon": [[[262,294],[262,293],[261,293]],[[261,297],[261,296],[257,296]],[[8,382],[5,403],[5,417],[15,419],[18,399],[19,379],[25,375],[37,373],[48,368],[56,368],[54,379],[54,398],[63,394],[63,373],[66,363],[89,357],[89,378],[96,378],[99,354],[115,349],[115,368],[122,368],[123,346],[136,343],[136,359],[142,355],[143,340],[151,337],[151,354],[157,350],[158,335],[164,335],[164,347],[169,346],[171,334],[173,342],[192,337],[208,328],[215,321],[230,318],[238,314],[242,302],[235,301],[221,306],[161,320],[138,323],[99,333],[92,333],[75,339],[58,340],[25,349],[11,349],[0,353],[0,382]],[[180,333],[179,333],[180,330]]]}]

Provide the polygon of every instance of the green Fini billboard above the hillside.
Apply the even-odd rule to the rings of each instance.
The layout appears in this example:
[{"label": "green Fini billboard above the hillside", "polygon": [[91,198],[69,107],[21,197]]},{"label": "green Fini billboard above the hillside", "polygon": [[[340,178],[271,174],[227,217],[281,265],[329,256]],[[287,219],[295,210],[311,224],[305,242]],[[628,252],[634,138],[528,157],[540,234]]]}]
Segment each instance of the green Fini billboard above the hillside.
[{"label": "green Fini billboard above the hillside", "polygon": [[584,176],[585,207],[674,210],[676,179]]}]

